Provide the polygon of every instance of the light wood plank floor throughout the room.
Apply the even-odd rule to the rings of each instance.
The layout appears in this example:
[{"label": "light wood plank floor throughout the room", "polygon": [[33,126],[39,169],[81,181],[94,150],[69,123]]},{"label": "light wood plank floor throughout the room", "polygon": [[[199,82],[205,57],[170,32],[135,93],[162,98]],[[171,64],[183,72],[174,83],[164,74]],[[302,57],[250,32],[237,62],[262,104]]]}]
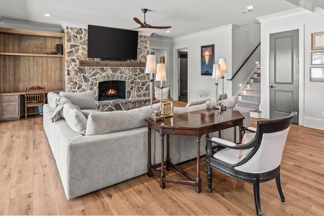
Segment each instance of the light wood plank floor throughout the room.
[{"label": "light wood plank floor throughout the room", "polygon": [[[0,214],[15,215],[253,215],[250,183],[213,172],[207,192],[205,158],[202,192],[192,186],[166,184],[146,175],[67,200],[42,116],[0,122]],[[252,126],[255,126],[255,119]],[[324,215],[324,132],[292,124],[281,163],[281,203],[275,181],[261,183],[264,215]],[[182,167],[195,174],[195,161]],[[167,176],[177,177],[171,170]]]}]

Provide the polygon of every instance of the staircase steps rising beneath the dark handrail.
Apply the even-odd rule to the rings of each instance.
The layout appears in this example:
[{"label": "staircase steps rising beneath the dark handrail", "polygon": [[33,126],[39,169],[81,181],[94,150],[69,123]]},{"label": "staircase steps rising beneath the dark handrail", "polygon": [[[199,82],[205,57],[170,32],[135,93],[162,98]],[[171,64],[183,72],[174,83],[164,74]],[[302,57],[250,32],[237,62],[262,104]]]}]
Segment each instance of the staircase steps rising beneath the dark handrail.
[{"label": "staircase steps rising beneath the dark handrail", "polygon": [[251,77],[250,83],[247,83],[247,88],[243,89],[243,94],[238,95],[237,107],[250,110],[250,116],[254,118],[260,117],[260,102],[261,102],[261,71],[258,71]]}]

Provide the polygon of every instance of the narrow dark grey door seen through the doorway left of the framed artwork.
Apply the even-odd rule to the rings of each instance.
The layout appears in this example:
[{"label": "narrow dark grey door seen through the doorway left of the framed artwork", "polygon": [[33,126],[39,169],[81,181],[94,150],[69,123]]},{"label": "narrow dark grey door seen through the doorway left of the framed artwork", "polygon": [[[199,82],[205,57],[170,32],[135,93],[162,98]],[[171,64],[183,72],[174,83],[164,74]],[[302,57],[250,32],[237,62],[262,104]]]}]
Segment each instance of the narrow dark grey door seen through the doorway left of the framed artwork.
[{"label": "narrow dark grey door seen through the doorway left of the framed artwork", "polygon": [[188,102],[188,53],[179,52],[179,101]]}]

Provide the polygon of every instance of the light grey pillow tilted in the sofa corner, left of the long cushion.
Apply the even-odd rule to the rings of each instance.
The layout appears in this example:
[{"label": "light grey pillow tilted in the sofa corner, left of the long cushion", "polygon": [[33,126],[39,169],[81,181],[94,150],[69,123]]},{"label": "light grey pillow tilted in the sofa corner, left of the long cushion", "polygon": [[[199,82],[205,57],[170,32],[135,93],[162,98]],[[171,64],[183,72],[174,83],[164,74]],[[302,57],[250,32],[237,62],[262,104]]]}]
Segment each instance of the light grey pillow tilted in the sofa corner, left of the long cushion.
[{"label": "light grey pillow tilted in the sofa corner, left of the long cushion", "polygon": [[87,118],[72,104],[66,103],[63,107],[63,114],[67,124],[73,131],[85,135],[87,129]]}]

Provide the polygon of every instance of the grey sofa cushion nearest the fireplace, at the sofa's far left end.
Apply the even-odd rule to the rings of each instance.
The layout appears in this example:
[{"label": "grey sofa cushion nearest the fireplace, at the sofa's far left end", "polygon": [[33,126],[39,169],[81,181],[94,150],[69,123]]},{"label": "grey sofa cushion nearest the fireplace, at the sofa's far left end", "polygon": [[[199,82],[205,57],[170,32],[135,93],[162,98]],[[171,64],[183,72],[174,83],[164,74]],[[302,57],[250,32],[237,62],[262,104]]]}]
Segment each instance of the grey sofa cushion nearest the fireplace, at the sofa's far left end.
[{"label": "grey sofa cushion nearest the fireplace, at the sofa's far left end", "polygon": [[60,96],[69,99],[72,104],[81,109],[96,109],[96,96],[94,91],[88,92],[60,92]]}]

